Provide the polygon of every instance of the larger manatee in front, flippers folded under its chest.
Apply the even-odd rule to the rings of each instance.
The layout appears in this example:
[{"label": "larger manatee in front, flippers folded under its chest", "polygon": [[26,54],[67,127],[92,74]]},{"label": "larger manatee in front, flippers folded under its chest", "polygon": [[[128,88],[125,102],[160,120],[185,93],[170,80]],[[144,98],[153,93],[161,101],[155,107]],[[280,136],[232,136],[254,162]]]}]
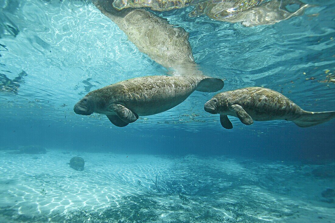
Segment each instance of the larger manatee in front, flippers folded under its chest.
[{"label": "larger manatee in front, flippers folded under its chest", "polygon": [[89,92],[74,105],[79,115],[104,114],[118,127],[169,110],[193,91],[216,92],[223,80],[207,76],[146,76]]}]

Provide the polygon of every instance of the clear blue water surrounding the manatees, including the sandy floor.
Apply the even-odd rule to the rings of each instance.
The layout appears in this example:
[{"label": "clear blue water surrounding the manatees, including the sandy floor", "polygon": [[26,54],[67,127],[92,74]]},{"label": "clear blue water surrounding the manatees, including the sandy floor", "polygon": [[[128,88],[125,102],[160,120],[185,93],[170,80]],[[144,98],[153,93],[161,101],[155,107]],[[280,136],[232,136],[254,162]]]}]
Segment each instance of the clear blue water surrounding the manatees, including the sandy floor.
[{"label": "clear blue water surrounding the manatees, including the sandy floor", "polygon": [[[221,91],[263,86],[307,111],[335,110],[325,81],[335,78],[335,1],[303,2],[313,6],[303,15],[254,27],[152,12],[189,32]],[[231,117],[226,130],[203,110],[215,93],[197,91],[124,128],[75,114],[89,91],[167,73],[90,1],[0,0],[1,88],[22,71],[0,91],[0,222],[335,221],[335,196],[323,193],[335,189],[335,120]],[[30,145],[47,153],[15,153]],[[66,164],[73,156],[83,171]]]}]

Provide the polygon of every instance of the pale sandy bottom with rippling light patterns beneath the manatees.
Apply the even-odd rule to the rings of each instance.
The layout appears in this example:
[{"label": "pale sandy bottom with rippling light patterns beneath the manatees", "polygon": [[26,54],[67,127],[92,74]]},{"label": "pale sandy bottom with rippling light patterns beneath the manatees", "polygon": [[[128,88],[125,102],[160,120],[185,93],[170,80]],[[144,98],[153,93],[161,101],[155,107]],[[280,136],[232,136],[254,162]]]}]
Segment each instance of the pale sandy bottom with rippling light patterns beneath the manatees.
[{"label": "pale sandy bottom with rippling light patterns beneath the manatees", "polygon": [[[85,160],[78,172],[66,163]],[[127,157],[128,156],[128,157]],[[333,164],[0,151],[0,222],[335,222]],[[157,181],[156,181],[157,177]]]}]

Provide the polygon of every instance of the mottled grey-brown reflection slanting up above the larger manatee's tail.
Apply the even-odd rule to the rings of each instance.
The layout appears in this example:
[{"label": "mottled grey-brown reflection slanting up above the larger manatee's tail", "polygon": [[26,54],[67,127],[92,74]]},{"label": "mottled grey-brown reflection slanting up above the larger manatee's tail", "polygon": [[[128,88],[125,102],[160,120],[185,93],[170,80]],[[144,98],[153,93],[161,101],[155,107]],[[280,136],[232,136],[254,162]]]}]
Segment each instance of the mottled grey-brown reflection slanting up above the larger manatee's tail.
[{"label": "mottled grey-brown reflection slanting up above the larger manatee's tail", "polygon": [[195,66],[189,33],[145,9],[116,10],[113,0],[92,0],[94,5],[126,33],[142,53],[166,68]]}]

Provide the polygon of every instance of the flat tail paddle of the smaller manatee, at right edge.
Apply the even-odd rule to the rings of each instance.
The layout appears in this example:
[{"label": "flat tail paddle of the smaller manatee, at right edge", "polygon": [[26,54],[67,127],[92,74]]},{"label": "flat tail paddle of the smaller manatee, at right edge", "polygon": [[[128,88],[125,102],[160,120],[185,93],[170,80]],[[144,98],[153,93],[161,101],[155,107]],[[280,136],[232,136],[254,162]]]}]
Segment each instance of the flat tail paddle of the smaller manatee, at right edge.
[{"label": "flat tail paddle of the smaller manatee, at right edge", "polygon": [[310,112],[303,111],[303,114],[293,122],[299,127],[316,126],[335,118],[335,111]]}]

